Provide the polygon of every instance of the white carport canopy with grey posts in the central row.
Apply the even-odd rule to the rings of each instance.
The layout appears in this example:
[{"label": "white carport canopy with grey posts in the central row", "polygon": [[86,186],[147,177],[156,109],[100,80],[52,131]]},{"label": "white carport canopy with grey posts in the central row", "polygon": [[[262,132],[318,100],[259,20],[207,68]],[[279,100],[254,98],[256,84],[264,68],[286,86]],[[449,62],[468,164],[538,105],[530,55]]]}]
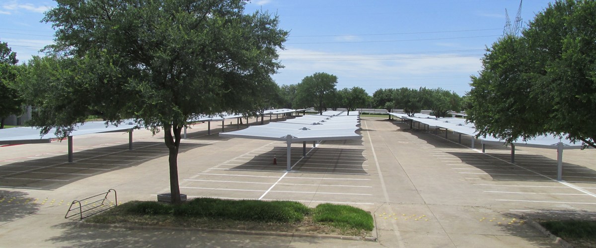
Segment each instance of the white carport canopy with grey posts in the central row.
[{"label": "white carport canopy with grey posts in the central row", "polygon": [[[338,115],[340,114],[340,115]],[[287,171],[291,168],[291,143],[303,143],[303,156],[306,156],[306,142],[322,140],[353,140],[362,136],[355,132],[359,129],[358,115],[343,115],[340,112],[324,115],[305,115],[287,121],[255,125],[243,130],[220,133],[222,137],[285,141],[287,145]],[[358,114],[358,112],[355,112]]]}]

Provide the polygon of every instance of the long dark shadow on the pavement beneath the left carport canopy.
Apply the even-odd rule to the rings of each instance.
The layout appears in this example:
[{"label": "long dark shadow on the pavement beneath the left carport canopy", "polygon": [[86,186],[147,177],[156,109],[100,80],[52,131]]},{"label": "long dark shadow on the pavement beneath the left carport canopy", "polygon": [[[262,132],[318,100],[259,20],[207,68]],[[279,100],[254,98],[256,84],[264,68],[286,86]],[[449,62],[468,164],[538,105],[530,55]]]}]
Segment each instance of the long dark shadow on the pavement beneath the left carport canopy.
[{"label": "long dark shadow on the pavement beneath the left carport canopy", "polygon": [[[184,143],[179,153],[201,146],[206,144]],[[128,149],[128,144],[76,150],[73,162],[68,162],[68,155],[24,159],[0,167],[0,187],[54,190],[83,178],[135,167],[168,154],[162,142],[134,142],[132,150]]]}]

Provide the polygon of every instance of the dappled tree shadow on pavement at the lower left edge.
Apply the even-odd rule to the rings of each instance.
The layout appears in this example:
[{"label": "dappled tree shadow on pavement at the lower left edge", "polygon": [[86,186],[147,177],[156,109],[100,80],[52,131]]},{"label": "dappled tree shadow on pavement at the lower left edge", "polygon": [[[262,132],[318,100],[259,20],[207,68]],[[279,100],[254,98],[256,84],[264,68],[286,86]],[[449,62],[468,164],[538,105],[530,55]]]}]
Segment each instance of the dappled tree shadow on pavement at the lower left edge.
[{"label": "dappled tree shadow on pavement at the lower left edge", "polygon": [[24,192],[0,190],[0,225],[35,214],[39,210],[36,200],[27,197],[28,195]]}]

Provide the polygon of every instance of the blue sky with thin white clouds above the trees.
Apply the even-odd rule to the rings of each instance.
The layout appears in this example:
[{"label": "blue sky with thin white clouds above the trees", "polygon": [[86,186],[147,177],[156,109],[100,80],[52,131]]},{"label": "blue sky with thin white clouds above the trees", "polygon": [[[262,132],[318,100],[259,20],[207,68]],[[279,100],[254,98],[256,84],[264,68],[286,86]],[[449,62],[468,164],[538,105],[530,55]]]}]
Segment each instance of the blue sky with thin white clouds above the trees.
[{"label": "blue sky with thin white clouds above the trees", "polygon": [[[526,0],[524,26],[548,7]],[[511,21],[519,0],[261,0],[247,12],[269,11],[290,31],[280,59],[285,68],[273,76],[297,84],[313,73],[338,77],[337,89],[429,87],[464,95],[480,58],[503,33],[505,9]],[[0,40],[27,61],[52,43],[51,24],[40,23],[48,0],[0,0]]]}]

